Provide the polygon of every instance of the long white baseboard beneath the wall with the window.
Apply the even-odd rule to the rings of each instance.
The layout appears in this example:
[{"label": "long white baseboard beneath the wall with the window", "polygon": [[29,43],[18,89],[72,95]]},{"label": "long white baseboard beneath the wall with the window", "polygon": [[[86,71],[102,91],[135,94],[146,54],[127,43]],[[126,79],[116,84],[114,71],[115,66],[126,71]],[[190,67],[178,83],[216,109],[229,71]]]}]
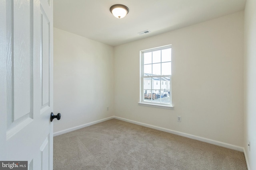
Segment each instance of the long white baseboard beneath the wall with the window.
[{"label": "long white baseboard beneath the wall with the window", "polygon": [[239,147],[239,146],[236,146],[236,145],[231,145],[231,144],[223,143],[223,142],[220,142],[220,141],[214,141],[212,139],[207,139],[207,138],[204,138],[204,137],[198,137],[198,136],[195,136],[195,135],[190,135],[188,133],[174,131],[174,130],[171,130],[171,129],[166,129],[166,128],[162,128],[162,127],[158,127],[158,126],[154,126],[154,125],[149,125],[149,124],[146,124],[146,123],[141,123],[141,122],[138,122],[138,121],[124,119],[124,118],[117,117],[117,116],[114,116],[113,118],[119,119],[119,120],[122,120],[122,121],[127,121],[129,123],[134,123],[134,124],[137,124],[137,125],[149,127],[149,128],[152,128],[152,129],[157,129],[157,130],[160,130],[160,131],[172,133],[172,134],[175,134],[175,135],[187,137],[187,138],[190,138],[190,139],[195,139],[195,140],[198,140],[198,141],[210,143],[210,144],[217,145],[217,146],[220,146],[220,147],[225,147],[225,148],[228,148],[228,149],[233,149],[233,150],[238,150],[240,152],[244,152],[243,147]]}]

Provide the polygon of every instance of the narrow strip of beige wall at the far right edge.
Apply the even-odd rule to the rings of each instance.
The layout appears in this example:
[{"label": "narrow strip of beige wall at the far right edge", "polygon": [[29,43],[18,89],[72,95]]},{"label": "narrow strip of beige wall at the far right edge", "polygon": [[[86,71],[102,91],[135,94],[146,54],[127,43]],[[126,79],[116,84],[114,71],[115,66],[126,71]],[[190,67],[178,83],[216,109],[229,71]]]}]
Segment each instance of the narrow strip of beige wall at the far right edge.
[{"label": "narrow strip of beige wall at the far right edge", "polygon": [[256,170],[256,0],[246,1],[244,64],[244,148],[250,169]]}]

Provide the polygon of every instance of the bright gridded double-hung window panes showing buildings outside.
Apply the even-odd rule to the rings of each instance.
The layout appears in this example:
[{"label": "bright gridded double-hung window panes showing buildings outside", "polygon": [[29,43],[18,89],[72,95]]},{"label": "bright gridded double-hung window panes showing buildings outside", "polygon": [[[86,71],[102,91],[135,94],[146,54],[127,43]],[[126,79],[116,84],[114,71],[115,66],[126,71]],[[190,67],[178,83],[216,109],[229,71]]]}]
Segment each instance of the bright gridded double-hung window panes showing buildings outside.
[{"label": "bright gridded double-hung window panes showing buildings outside", "polygon": [[140,104],[172,106],[171,51],[170,45],[141,51]]}]

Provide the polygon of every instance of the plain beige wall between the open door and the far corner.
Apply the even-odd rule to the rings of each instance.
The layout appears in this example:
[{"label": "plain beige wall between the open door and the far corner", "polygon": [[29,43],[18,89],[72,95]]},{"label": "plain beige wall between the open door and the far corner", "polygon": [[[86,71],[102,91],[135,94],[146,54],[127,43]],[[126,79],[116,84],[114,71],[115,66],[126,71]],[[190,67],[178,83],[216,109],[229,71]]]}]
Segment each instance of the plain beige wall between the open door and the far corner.
[{"label": "plain beige wall between the open door and the far corner", "polygon": [[113,63],[113,47],[54,28],[54,132],[114,115]]}]

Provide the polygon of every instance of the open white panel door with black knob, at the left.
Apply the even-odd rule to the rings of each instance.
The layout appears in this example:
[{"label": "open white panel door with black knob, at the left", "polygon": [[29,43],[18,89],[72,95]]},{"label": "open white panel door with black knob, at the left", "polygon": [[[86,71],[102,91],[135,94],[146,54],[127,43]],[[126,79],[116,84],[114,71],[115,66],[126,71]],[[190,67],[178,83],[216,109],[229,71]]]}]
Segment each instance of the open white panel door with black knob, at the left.
[{"label": "open white panel door with black knob, at the left", "polygon": [[0,161],[52,170],[52,66],[52,0],[0,0]]}]

